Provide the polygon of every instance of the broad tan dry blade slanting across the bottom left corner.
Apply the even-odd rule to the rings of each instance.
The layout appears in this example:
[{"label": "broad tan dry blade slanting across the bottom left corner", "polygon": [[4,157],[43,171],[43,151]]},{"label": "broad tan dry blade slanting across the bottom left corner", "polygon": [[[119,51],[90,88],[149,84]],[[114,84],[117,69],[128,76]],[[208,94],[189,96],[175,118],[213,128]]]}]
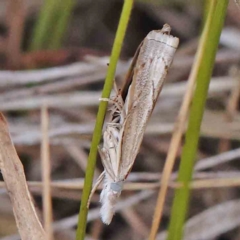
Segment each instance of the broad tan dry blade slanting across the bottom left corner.
[{"label": "broad tan dry blade slanting across the bottom left corner", "polygon": [[16,223],[22,240],[45,240],[45,233],[38,219],[21,161],[12,144],[7,122],[0,115],[0,167],[8,190]]}]

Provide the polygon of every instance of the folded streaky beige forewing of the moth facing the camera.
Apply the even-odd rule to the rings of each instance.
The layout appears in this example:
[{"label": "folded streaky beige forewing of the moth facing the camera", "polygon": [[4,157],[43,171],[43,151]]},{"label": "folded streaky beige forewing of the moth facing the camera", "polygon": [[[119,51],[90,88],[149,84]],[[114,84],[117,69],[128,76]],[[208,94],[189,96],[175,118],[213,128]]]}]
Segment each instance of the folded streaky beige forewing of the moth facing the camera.
[{"label": "folded streaky beige forewing of the moth facing the camera", "polygon": [[118,150],[119,177],[125,179],[139,152],[147,122],[162,89],[178,38],[152,31],[144,39],[126,99],[127,117]]}]

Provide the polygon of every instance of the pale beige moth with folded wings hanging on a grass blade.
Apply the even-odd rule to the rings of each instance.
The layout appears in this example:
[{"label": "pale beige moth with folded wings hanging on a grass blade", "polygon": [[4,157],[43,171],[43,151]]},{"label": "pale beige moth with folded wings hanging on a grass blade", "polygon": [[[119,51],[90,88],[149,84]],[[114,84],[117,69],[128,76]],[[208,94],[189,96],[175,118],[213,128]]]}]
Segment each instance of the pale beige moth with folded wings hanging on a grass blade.
[{"label": "pale beige moth with folded wings hanging on a grass blade", "polygon": [[179,39],[170,35],[170,31],[165,24],[145,37],[134,55],[124,86],[112,101],[111,118],[103,132],[103,146],[99,148],[104,171],[91,192],[92,195],[104,179],[100,214],[105,224],[111,223],[114,206],[139,152],[147,122],[178,47]]}]

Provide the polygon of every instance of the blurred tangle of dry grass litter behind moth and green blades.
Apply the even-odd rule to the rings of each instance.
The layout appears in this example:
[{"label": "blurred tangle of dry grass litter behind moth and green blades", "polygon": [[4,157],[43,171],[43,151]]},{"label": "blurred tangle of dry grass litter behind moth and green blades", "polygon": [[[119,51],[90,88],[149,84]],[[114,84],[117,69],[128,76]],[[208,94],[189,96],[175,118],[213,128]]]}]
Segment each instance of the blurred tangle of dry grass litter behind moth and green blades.
[{"label": "blurred tangle of dry grass litter behind moth and green blades", "polygon": [[[158,189],[206,3],[207,0],[135,1],[116,72],[118,86],[121,87],[131,57],[149,31],[168,23],[171,34],[180,38],[180,46],[129,175],[128,187],[122,193],[119,212],[110,226],[104,226],[99,220],[97,192],[92,199],[86,239],[138,240],[148,236],[157,198],[156,191],[149,190]],[[41,108],[48,106],[56,240],[75,239],[98,99],[122,4],[120,0],[0,0],[0,110],[7,117],[42,216]],[[216,160],[210,166],[200,164],[195,179],[240,176],[240,151],[232,153],[240,140],[239,27],[240,10],[232,0],[216,56],[197,156],[204,163],[211,160],[210,156],[216,155]],[[217,156],[221,153],[230,155],[220,162]],[[175,170],[180,155],[181,149]],[[102,170],[98,159],[96,177]],[[139,185],[131,185],[134,182]],[[4,184],[0,186],[0,240],[19,239],[11,203]],[[237,187],[193,190],[189,219],[194,216],[197,220],[186,239],[240,239],[240,220],[236,218],[240,203],[224,205],[239,196]],[[172,198],[171,188],[159,232],[166,230]],[[164,239],[161,236],[159,239]]]}]

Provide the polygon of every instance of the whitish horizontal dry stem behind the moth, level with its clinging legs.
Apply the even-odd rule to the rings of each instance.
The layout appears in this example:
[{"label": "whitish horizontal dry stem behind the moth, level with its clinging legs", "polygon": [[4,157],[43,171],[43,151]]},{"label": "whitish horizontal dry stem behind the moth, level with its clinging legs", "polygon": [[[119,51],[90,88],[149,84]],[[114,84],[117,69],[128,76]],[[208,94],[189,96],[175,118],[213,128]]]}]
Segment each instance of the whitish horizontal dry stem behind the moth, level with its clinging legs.
[{"label": "whitish horizontal dry stem behind the moth, level with its clinging legs", "polygon": [[[1,75],[1,74],[0,74]],[[0,77],[1,85],[1,77]],[[186,90],[186,82],[175,83],[166,85],[161,93],[161,98],[164,97],[181,97]],[[222,94],[223,92],[228,92],[232,87],[236,86],[237,83],[230,77],[218,77],[213,78],[210,85],[209,96],[216,96]],[[44,96],[35,96],[12,99],[6,98],[6,101],[1,101],[0,97],[0,110],[10,111],[10,110],[32,110],[40,109],[44,103],[48,104],[48,107],[57,107],[57,108],[67,108],[73,106],[97,106],[99,104],[99,98],[101,96],[100,92],[71,92],[64,94],[56,95],[44,95]]]}]

